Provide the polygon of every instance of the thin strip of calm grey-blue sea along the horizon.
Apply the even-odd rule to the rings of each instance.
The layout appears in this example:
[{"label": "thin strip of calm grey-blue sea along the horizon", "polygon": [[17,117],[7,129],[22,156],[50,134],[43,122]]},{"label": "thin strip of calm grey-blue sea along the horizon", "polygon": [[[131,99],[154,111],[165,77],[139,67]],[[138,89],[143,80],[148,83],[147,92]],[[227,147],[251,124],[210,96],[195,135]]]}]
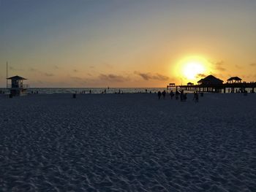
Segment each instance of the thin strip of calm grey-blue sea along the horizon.
[{"label": "thin strip of calm grey-blue sea along the horizon", "polygon": [[[27,93],[38,93],[39,94],[53,94],[53,93],[155,93],[157,91],[164,91],[166,88],[29,88]],[[174,90],[174,89],[173,89]],[[0,91],[8,93],[6,88],[0,88]],[[170,91],[170,89],[169,89]]]}]

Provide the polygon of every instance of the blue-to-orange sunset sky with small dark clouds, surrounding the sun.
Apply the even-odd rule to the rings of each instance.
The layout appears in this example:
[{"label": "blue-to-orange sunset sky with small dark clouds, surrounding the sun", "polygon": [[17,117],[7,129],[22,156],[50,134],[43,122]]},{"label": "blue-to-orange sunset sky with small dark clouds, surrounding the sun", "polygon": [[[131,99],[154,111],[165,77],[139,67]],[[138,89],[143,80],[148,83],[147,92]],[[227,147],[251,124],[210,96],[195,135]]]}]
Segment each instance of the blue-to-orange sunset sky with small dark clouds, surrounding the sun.
[{"label": "blue-to-orange sunset sky with small dark clouds, surrounding the sun", "polygon": [[[0,87],[165,87],[208,74],[256,81],[255,0],[0,0]],[[190,70],[190,69],[189,69]]]}]

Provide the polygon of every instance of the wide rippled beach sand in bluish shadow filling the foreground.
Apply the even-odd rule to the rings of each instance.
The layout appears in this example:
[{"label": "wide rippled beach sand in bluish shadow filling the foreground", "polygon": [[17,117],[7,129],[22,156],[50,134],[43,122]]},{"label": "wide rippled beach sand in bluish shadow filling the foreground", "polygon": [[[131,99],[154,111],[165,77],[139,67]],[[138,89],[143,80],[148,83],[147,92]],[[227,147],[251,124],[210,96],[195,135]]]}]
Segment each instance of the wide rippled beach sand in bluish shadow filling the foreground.
[{"label": "wide rippled beach sand in bluish shadow filling the foreground", "polygon": [[0,191],[256,191],[256,94],[0,97]]}]

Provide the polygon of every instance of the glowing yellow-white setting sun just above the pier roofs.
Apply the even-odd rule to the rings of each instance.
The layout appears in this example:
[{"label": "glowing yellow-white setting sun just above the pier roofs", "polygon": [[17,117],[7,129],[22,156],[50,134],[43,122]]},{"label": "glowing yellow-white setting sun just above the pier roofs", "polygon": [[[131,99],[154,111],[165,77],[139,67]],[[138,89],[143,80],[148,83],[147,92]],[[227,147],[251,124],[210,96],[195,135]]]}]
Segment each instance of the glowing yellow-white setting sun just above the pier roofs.
[{"label": "glowing yellow-white setting sun just above the pier roofs", "polygon": [[204,58],[189,57],[178,62],[176,72],[178,72],[179,78],[195,82],[209,73],[209,65],[209,62]]}]

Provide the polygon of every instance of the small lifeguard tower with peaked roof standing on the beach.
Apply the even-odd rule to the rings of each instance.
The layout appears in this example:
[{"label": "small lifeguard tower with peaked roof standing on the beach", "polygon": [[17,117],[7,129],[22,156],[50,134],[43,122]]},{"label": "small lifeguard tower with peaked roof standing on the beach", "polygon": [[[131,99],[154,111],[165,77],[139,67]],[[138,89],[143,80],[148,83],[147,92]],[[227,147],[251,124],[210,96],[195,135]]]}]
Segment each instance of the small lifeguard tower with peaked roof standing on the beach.
[{"label": "small lifeguard tower with peaked roof standing on the beach", "polygon": [[29,85],[23,84],[23,80],[27,80],[27,79],[16,75],[16,76],[7,78],[7,80],[12,81],[12,84],[8,84],[8,88],[10,89],[10,94],[12,96],[20,96],[20,95],[26,94],[26,90],[27,88],[29,88]]}]

